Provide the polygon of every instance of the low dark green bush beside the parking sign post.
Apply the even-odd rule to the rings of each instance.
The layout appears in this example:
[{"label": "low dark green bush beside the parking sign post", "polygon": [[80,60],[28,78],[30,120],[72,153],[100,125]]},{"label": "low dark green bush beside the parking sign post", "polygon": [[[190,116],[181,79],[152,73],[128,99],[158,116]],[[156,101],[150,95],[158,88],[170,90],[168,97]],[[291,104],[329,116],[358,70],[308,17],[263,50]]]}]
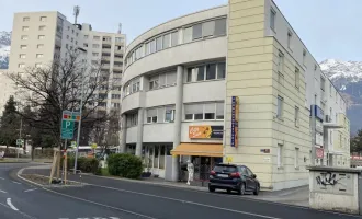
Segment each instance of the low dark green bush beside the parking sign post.
[{"label": "low dark green bush beside the parking sign post", "polygon": [[[67,162],[67,169],[75,168],[75,157],[69,157]],[[64,158],[61,157],[61,166],[64,163]],[[77,169],[84,173],[94,173],[99,172],[99,161],[95,158],[78,158]]]}]

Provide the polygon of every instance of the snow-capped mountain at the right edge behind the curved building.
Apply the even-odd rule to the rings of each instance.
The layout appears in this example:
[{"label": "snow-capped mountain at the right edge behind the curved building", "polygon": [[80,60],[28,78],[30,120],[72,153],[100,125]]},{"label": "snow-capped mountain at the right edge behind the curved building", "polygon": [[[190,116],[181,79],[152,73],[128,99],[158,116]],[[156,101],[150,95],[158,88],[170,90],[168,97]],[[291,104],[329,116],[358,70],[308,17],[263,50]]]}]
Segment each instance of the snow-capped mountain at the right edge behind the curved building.
[{"label": "snow-capped mountain at the right edge behind the curved building", "polygon": [[362,128],[362,61],[327,59],[319,65],[347,101],[351,134],[355,134]]}]

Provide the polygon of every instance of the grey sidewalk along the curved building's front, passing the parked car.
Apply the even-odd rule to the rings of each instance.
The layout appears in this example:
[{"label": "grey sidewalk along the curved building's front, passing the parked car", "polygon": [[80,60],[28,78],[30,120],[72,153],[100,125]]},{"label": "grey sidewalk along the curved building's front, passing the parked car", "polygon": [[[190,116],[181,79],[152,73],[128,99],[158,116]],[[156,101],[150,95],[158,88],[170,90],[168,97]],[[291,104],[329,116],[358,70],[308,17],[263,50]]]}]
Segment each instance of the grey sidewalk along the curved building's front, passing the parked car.
[{"label": "grey sidewalk along the curved building's front, passing the parked car", "polygon": [[[50,170],[49,165],[42,165],[42,166],[31,166],[26,168],[22,171],[23,174],[39,174],[39,175],[49,175]],[[70,176],[72,173],[70,174]],[[194,185],[188,185],[185,182],[169,182],[165,181],[163,178],[158,177],[147,177],[142,180],[129,180],[129,178],[122,178],[116,176],[98,176],[93,174],[82,173],[81,175],[86,177],[100,177],[100,178],[106,178],[112,181],[125,181],[125,182],[132,182],[132,183],[144,183],[144,184],[151,184],[151,185],[158,185],[158,186],[167,186],[167,187],[176,187],[176,188],[182,188],[182,189],[192,189],[192,191],[199,191],[199,192],[207,192],[207,187],[202,186],[194,186]],[[70,177],[69,177],[70,178]],[[78,177],[77,177],[78,178]],[[80,180],[81,178],[81,180]],[[86,178],[80,177],[78,180],[82,181],[83,183]],[[216,191],[216,194],[226,194],[224,191]],[[289,188],[283,191],[276,191],[276,192],[263,192],[261,191],[258,196],[256,195],[245,195],[246,198],[252,198],[258,200],[265,200],[265,201],[273,201],[273,203],[281,203],[286,205],[295,205],[295,206],[303,206],[303,207],[309,207],[309,188],[308,186],[302,186],[296,188]]]}]

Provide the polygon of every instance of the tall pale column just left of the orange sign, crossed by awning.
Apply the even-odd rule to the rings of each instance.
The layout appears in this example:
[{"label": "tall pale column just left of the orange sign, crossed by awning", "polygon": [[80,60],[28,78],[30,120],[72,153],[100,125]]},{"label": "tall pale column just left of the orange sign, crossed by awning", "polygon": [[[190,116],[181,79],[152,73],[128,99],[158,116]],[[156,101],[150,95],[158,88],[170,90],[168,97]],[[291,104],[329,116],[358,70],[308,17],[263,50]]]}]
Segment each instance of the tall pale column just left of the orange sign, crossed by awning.
[{"label": "tall pale column just left of the orange sign, crossed by awning", "polygon": [[[176,78],[176,105],[174,105],[174,134],[173,149],[181,143],[182,120],[182,96],[183,96],[183,66],[178,66]],[[172,155],[172,181],[179,180],[179,157]]]}]

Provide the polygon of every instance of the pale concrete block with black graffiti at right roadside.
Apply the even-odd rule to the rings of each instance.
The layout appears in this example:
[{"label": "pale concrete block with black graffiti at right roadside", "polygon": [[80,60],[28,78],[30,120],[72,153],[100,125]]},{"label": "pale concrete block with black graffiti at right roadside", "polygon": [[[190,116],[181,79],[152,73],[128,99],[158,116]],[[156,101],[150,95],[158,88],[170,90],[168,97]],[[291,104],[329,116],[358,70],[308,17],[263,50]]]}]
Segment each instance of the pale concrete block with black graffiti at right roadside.
[{"label": "pale concrete block with black graffiti at right roadside", "polygon": [[307,166],[307,170],[310,208],[348,214],[361,212],[361,170],[335,166]]}]

